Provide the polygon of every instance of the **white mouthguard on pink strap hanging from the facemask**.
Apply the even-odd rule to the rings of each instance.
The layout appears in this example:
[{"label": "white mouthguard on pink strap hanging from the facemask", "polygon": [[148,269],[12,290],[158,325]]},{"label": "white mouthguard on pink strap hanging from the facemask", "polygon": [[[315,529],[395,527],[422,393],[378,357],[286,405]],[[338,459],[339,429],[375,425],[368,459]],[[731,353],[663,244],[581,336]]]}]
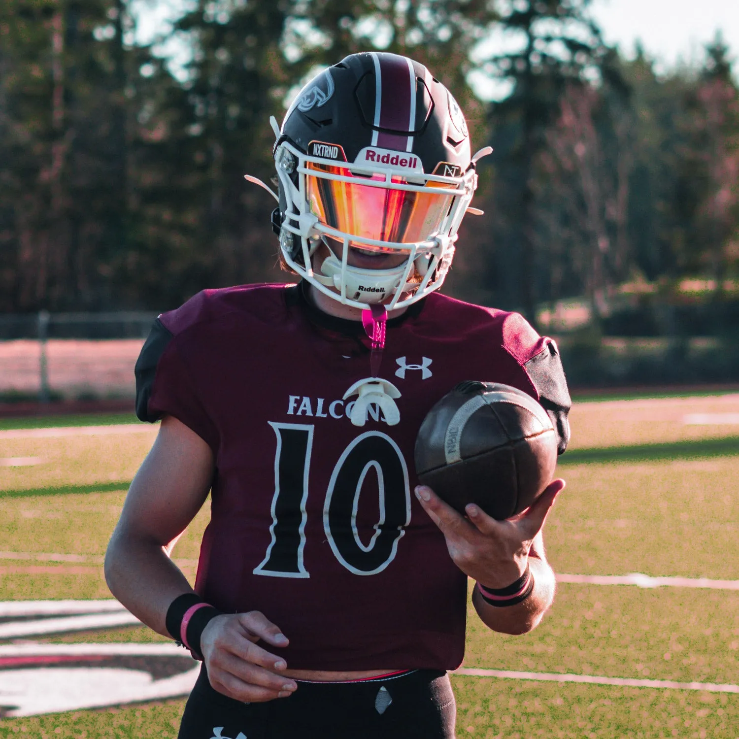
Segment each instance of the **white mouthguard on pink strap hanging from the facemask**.
[{"label": "white mouthguard on pink strap hanging from the facemask", "polygon": [[395,403],[395,398],[401,397],[401,391],[392,382],[378,377],[382,350],[385,348],[386,321],[387,310],[384,305],[373,304],[362,311],[362,325],[369,336],[369,341],[372,342],[369,355],[372,377],[355,382],[344,393],[344,400],[352,395],[358,396],[349,415],[355,426],[364,426],[367,422],[367,415],[369,415],[369,406],[372,404],[381,410],[388,426],[395,426],[401,420],[401,412],[398,404]]}]

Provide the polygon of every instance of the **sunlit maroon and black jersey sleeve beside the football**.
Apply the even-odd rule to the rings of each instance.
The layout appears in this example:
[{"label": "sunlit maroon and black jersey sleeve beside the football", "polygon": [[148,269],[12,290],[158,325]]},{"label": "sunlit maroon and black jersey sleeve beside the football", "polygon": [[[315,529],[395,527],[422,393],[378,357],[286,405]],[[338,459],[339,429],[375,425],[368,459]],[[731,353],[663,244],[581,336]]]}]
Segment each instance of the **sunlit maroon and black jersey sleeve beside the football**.
[{"label": "sunlit maroon and black jersey sleeve beside the football", "polygon": [[556,341],[539,336],[518,313],[508,313],[503,321],[503,347],[528,375],[539,403],[552,420],[557,451],[562,454],[570,440],[568,414],[572,401]]}]

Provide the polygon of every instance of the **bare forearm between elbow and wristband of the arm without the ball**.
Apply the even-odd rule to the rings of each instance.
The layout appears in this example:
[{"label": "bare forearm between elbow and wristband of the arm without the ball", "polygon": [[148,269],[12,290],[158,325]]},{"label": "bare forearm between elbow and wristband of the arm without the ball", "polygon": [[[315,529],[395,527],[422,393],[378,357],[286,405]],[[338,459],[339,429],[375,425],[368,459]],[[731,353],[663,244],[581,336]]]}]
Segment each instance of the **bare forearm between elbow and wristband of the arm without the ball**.
[{"label": "bare forearm between elbow and wristband of the arm without the ball", "polygon": [[105,579],[110,592],[137,619],[169,636],[165,617],[171,602],[193,590],[163,546],[116,531],[105,556]]}]

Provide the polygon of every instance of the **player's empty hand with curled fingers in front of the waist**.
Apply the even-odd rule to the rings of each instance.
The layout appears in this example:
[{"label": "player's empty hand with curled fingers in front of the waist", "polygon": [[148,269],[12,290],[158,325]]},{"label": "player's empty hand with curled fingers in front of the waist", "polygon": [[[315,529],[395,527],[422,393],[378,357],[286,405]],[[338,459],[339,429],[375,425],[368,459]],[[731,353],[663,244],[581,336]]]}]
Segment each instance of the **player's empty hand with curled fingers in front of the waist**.
[{"label": "player's empty hand with curled fingers in front of the waist", "polygon": [[270,654],[256,642],[287,647],[287,637],[258,610],[224,613],[211,619],[200,637],[211,686],[244,703],[287,698],[298,686],[281,675],[287,668],[282,657]]}]

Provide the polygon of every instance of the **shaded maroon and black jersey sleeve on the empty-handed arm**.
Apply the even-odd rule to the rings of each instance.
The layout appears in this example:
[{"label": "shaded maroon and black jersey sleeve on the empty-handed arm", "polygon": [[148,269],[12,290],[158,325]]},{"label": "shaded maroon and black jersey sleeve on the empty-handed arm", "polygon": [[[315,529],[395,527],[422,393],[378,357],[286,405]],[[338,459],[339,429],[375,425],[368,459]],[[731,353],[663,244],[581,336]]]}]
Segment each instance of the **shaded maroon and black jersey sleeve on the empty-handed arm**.
[{"label": "shaded maroon and black jersey sleeve on the empty-handed arm", "polygon": [[172,415],[200,436],[214,452],[218,448],[215,424],[198,397],[197,388],[177,347],[177,338],[160,319],[154,321],[134,369],[136,415],[159,420]]}]

